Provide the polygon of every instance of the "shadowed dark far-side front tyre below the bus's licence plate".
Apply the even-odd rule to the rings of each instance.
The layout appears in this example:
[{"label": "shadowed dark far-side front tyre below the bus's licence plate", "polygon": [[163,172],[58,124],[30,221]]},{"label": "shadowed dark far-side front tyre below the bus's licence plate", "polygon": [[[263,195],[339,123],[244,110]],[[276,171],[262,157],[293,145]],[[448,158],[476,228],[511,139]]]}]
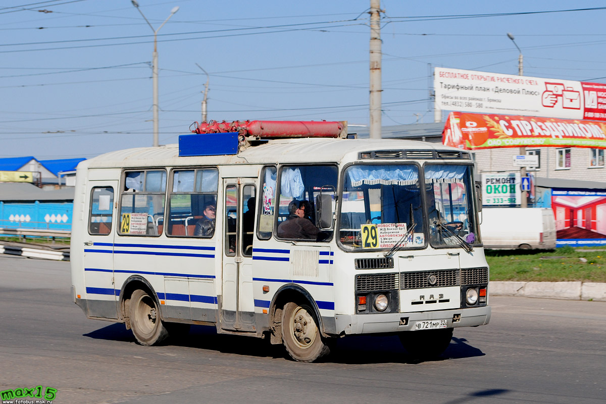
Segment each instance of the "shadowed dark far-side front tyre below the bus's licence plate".
[{"label": "shadowed dark far-side front tyre below the bus's licence plate", "polygon": [[398,336],[411,358],[433,359],[448,348],[453,337],[453,328],[404,331]]}]

